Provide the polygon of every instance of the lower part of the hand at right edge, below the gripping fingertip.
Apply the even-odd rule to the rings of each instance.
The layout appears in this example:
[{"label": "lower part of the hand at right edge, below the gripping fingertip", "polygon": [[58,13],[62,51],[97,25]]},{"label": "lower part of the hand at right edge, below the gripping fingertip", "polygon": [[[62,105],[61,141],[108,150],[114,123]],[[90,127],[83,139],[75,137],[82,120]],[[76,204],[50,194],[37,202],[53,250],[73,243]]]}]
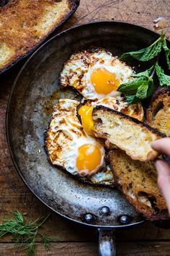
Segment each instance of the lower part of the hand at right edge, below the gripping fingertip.
[{"label": "lower part of the hand at right edge, below the gripping fingertip", "polygon": [[158,186],[164,195],[170,213],[170,166],[162,160],[156,160],[155,165],[158,171]]}]

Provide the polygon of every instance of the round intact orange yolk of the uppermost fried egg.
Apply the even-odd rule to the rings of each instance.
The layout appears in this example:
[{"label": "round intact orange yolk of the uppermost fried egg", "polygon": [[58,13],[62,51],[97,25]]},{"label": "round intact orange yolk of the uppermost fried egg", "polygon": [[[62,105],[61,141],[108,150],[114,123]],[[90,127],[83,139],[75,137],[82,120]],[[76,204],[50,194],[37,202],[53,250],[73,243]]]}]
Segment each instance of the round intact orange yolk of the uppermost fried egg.
[{"label": "round intact orange yolk of the uppermost fried egg", "polygon": [[117,90],[120,85],[116,75],[104,68],[94,69],[91,73],[91,83],[97,93],[104,95],[111,93],[112,90]]}]

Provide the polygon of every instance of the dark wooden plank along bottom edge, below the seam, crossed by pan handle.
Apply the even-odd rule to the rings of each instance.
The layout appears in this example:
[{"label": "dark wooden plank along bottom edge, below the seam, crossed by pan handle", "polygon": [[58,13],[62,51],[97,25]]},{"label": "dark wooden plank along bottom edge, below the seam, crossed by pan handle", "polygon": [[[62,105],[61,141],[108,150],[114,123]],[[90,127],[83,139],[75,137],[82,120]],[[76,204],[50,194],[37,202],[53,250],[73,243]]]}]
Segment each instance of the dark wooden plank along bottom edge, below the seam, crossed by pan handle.
[{"label": "dark wooden plank along bottom edge, below the seam, crossed by pan handle", "polygon": [[[14,250],[13,244],[1,244],[0,255],[24,256],[21,250]],[[37,244],[37,256],[97,256],[98,244],[94,242],[58,242],[53,243],[50,251],[46,251],[41,244]],[[170,244],[168,242],[121,242],[117,243],[117,256],[168,256],[170,255]]]}]

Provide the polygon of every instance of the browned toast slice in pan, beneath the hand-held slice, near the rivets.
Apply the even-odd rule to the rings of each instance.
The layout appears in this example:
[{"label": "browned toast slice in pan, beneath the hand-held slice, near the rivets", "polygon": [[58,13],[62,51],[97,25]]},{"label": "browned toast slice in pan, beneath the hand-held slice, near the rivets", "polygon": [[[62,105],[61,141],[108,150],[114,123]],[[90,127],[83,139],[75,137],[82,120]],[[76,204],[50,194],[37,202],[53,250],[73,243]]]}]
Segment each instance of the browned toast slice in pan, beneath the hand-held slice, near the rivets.
[{"label": "browned toast slice in pan, beneath the hand-held slice, near the rivets", "polygon": [[153,162],[134,161],[122,150],[111,150],[109,161],[118,187],[139,213],[150,221],[169,218]]}]

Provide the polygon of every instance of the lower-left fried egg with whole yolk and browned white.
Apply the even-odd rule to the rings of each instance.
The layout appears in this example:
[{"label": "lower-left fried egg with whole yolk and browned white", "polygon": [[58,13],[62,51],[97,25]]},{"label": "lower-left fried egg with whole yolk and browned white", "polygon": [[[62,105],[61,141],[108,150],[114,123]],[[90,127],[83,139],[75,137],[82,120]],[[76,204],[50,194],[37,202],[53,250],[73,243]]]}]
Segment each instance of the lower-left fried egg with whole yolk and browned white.
[{"label": "lower-left fried egg with whole yolk and browned white", "polygon": [[78,101],[61,99],[55,106],[45,135],[45,148],[51,163],[69,173],[91,176],[105,168],[104,147],[84,132],[76,116]]}]

